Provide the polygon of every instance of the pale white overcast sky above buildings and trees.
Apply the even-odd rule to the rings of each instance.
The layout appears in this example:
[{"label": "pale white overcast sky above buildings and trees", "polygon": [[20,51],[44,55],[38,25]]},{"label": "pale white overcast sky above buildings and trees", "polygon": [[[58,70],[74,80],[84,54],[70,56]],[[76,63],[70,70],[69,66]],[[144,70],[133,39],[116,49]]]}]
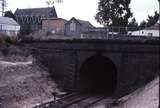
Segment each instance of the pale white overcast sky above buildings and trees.
[{"label": "pale white overcast sky above buildings and trees", "polygon": [[[6,0],[7,10],[14,12],[17,8],[38,8],[46,7],[47,0]],[[77,19],[90,21],[94,26],[101,26],[95,20],[95,15],[98,12],[99,0],[63,0],[63,3],[55,3],[55,8],[58,17],[66,20],[75,17]],[[158,0],[131,0],[130,4],[133,16],[137,22],[146,20],[148,15],[153,15],[159,11]]]}]

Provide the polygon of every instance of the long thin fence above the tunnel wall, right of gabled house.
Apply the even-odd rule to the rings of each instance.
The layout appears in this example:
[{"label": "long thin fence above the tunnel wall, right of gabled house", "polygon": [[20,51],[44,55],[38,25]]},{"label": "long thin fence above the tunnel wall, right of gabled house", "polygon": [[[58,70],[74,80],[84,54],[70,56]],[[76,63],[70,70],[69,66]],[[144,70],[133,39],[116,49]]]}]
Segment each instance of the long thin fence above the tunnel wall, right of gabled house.
[{"label": "long thin fence above the tunnel wall, right of gabled house", "polygon": [[126,36],[150,36],[159,37],[158,27],[137,28],[137,27],[98,27],[86,28],[83,34],[99,34],[99,35],[126,35]]}]

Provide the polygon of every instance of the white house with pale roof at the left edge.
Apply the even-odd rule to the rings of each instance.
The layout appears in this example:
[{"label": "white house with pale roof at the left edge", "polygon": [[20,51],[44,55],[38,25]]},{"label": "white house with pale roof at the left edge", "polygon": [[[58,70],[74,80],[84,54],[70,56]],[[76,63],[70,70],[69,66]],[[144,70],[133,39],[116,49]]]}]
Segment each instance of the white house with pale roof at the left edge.
[{"label": "white house with pale roof at the left edge", "polygon": [[0,16],[0,34],[5,34],[7,36],[17,36],[20,31],[20,25],[8,17]]}]

